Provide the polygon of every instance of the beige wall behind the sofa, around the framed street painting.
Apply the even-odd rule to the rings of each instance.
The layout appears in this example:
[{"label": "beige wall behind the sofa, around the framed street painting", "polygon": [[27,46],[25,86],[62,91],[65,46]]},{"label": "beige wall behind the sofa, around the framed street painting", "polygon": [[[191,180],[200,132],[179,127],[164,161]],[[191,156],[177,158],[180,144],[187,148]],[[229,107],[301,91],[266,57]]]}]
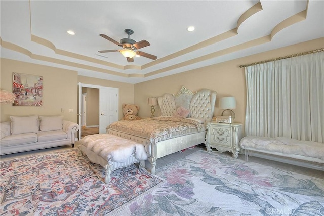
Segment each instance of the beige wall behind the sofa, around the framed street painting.
[{"label": "beige wall behind the sofa, around the framed street painting", "polygon": [[[64,119],[77,122],[77,72],[55,67],[31,64],[1,58],[0,88],[12,92],[12,73],[43,76],[43,106],[12,106],[0,104],[0,122],[10,116],[62,115]],[[64,112],[61,112],[63,108]],[[69,109],[73,109],[70,113]]]}]

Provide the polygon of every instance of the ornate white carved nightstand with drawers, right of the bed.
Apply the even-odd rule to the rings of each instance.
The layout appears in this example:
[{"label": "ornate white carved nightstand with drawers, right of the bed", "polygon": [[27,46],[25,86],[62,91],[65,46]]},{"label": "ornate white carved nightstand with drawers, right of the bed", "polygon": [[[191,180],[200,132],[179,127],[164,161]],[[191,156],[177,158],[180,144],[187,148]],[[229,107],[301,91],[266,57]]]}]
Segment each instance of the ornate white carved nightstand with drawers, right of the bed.
[{"label": "ornate white carved nightstand with drawers, right of the bed", "polygon": [[233,157],[237,158],[239,153],[239,141],[242,138],[241,123],[207,123],[207,135],[205,145],[207,151],[211,152],[211,148],[215,148],[220,152],[233,152]]}]

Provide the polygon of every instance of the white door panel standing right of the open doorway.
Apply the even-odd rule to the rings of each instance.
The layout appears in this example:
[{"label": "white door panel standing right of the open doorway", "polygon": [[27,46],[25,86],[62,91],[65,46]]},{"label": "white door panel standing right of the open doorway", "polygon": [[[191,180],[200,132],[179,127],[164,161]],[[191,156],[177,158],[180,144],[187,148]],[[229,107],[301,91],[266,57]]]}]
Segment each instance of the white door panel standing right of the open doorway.
[{"label": "white door panel standing right of the open doorway", "polygon": [[99,89],[99,133],[105,134],[106,127],[118,121],[118,89]]}]

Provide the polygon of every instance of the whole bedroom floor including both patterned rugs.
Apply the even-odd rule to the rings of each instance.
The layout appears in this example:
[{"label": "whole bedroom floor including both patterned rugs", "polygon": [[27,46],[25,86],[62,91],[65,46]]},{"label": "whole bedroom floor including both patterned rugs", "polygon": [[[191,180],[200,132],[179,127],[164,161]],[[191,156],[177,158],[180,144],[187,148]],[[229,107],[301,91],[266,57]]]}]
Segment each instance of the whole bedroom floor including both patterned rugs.
[{"label": "whole bedroom floor including both patterned rugs", "polygon": [[105,185],[100,165],[65,155],[75,150],[2,156],[0,214],[324,215],[323,171],[197,146],[157,159],[156,175],[133,164]]}]

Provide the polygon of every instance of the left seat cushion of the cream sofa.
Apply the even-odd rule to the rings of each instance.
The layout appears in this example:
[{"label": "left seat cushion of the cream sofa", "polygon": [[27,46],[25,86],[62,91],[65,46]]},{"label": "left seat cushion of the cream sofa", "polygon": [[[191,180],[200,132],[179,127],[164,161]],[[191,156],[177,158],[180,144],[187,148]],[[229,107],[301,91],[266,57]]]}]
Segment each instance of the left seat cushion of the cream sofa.
[{"label": "left seat cushion of the cream sofa", "polygon": [[25,133],[25,134],[15,134],[4,137],[0,140],[1,147],[18,145],[18,144],[27,144],[37,142],[36,133]]}]

